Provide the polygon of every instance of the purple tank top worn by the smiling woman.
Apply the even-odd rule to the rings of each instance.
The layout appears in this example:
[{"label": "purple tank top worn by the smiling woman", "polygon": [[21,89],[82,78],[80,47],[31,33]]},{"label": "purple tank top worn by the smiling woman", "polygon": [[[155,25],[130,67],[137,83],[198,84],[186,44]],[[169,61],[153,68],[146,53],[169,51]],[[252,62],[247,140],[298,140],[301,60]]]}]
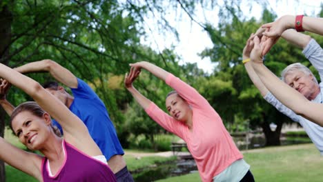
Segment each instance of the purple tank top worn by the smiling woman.
[{"label": "purple tank top worn by the smiling woman", "polygon": [[41,173],[44,182],[117,181],[115,174],[113,174],[107,164],[84,154],[74,146],[66,143],[66,141],[63,141],[63,150],[65,151],[64,163],[55,176],[49,175],[47,168],[48,159],[46,157],[43,158]]}]

